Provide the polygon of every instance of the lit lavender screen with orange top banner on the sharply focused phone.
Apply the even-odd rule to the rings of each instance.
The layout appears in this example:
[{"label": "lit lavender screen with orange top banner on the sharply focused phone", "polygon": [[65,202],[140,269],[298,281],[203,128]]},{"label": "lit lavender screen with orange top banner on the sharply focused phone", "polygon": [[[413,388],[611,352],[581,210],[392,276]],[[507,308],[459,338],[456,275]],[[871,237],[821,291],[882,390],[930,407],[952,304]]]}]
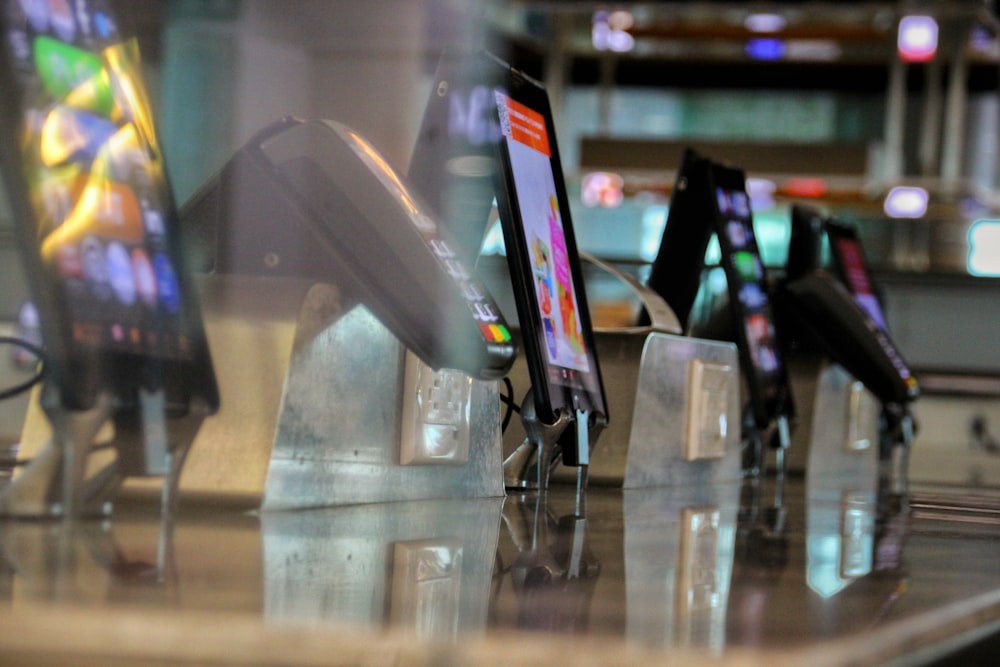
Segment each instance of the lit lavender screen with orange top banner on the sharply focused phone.
[{"label": "lit lavender screen with orange top banner on the sharply focused phone", "polygon": [[545,333],[549,381],[582,387],[580,376],[591,371],[591,361],[566,248],[564,213],[552,173],[545,118],[502,92],[496,93],[496,99]]}]

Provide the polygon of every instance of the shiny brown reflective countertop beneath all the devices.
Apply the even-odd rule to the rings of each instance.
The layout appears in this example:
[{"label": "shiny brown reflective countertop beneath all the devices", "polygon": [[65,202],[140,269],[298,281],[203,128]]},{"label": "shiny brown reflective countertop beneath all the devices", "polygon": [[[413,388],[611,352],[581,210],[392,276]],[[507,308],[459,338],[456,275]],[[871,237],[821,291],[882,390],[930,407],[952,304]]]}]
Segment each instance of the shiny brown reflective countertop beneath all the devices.
[{"label": "shiny brown reflective countertop beneath all the devices", "polygon": [[876,477],[0,523],[0,663],[919,664],[1000,628],[1000,493]]}]

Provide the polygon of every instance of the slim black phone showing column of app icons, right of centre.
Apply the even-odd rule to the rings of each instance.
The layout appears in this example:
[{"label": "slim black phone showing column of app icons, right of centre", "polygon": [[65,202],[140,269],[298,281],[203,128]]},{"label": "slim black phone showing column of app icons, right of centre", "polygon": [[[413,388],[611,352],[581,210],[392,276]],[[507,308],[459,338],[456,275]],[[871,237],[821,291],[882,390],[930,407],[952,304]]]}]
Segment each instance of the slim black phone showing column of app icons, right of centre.
[{"label": "slim black phone showing column of app icons, right of centre", "polygon": [[791,417],[794,405],[778,341],[774,313],[754,234],[743,170],[712,163],[709,170],[714,218],[729,303],[737,323],[737,347],[758,428]]}]

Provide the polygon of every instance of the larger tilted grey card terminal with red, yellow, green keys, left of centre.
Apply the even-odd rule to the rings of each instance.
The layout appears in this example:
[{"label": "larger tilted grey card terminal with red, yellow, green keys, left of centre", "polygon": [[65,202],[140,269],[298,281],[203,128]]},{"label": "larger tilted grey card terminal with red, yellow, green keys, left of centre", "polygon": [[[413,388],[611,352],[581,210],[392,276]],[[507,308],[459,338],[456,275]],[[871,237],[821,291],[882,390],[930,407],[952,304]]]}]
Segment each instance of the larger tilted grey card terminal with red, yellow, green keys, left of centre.
[{"label": "larger tilted grey card terminal with red, yellow, green keys, left of centre", "polygon": [[432,368],[503,377],[515,353],[507,324],[428,213],[350,128],[286,118],[254,136],[184,218],[215,228],[218,272],[335,282]]}]

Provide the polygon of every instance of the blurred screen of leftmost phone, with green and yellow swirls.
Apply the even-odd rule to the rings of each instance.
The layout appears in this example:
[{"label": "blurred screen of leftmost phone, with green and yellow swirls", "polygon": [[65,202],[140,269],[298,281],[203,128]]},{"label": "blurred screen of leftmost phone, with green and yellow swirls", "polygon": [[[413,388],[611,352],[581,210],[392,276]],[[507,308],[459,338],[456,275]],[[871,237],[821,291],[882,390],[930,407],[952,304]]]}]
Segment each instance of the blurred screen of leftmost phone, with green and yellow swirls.
[{"label": "blurred screen of leftmost phone, with green and yellow swirls", "polygon": [[23,173],[67,334],[87,349],[188,358],[173,200],[136,42],[101,0],[6,0],[3,12]]}]

